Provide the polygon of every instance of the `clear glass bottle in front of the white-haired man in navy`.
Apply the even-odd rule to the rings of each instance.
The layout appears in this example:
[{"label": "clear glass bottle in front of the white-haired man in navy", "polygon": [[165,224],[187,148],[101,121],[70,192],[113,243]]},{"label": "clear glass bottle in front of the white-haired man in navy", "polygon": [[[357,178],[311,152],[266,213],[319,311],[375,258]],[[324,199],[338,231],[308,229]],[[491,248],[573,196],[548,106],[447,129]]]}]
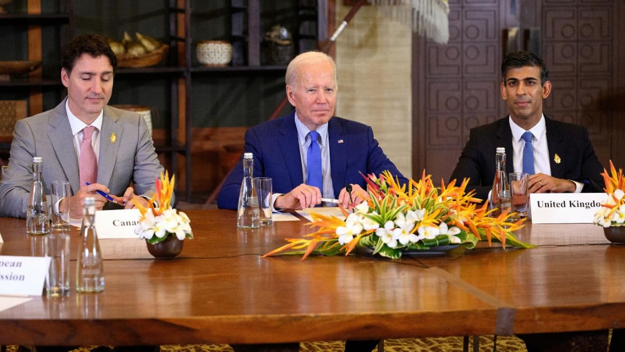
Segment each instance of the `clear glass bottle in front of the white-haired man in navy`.
[{"label": "clear glass bottle in front of the white-haired man in navy", "polygon": [[254,189],[254,158],[252,153],[243,154],[243,182],[239,192],[239,207],[237,208],[236,227],[239,229],[256,229],[261,226],[258,196]]}]

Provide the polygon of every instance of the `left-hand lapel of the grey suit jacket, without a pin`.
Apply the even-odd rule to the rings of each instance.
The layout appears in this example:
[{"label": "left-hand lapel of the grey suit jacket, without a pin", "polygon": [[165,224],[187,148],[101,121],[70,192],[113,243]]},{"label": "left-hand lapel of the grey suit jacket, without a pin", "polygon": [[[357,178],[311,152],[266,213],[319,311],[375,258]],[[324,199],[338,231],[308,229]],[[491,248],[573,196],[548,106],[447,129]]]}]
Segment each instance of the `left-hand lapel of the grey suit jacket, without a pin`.
[{"label": "left-hand lapel of the grey suit jacket, without a pin", "polygon": [[48,124],[51,126],[51,130],[47,133],[47,137],[50,139],[54,154],[59,160],[65,177],[69,180],[72,192],[76,194],[80,189],[78,160],[76,160],[76,153],[72,153],[74,151],[74,137],[69,125],[68,113],[65,110],[66,101],[67,98],[57,105],[50,115]]}]

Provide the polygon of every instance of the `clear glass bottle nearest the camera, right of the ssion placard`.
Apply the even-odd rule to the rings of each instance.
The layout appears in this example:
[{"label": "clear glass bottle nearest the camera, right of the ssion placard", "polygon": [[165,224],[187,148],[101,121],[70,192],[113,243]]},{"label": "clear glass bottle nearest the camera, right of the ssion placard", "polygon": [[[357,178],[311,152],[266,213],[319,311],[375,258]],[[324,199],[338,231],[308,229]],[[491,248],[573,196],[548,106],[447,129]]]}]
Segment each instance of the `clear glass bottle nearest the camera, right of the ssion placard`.
[{"label": "clear glass bottle nearest the camera, right of the ssion placard", "polygon": [[104,291],[104,266],[102,252],[98,243],[98,234],[94,226],[96,217],[96,199],[84,199],[83,225],[81,226],[81,242],[76,261],[76,291]]}]

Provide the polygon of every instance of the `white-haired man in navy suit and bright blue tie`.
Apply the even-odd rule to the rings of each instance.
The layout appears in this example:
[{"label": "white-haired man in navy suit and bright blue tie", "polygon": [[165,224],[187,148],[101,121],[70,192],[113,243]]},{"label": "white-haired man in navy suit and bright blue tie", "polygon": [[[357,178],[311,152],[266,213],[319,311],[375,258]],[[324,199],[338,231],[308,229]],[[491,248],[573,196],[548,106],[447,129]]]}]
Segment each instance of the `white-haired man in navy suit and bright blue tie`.
[{"label": "white-haired man in navy suit and bright blue tie", "polygon": [[[330,56],[310,51],[299,54],[286,70],[286,94],[295,111],[261,123],[245,135],[245,151],[254,155],[254,177],[271,177],[274,209],[303,209],[321,204],[321,198],[350,203],[345,186],[352,185],[352,200],[361,202],[364,174],[389,170],[407,182],[384,155],[371,127],[333,116],[336,103],[336,66]],[[313,141],[311,135],[316,138]],[[311,144],[321,152],[322,180],[310,182],[307,170]],[[243,170],[239,162],[228,175],[217,205],[236,209]],[[321,175],[320,175],[321,177]]]}]

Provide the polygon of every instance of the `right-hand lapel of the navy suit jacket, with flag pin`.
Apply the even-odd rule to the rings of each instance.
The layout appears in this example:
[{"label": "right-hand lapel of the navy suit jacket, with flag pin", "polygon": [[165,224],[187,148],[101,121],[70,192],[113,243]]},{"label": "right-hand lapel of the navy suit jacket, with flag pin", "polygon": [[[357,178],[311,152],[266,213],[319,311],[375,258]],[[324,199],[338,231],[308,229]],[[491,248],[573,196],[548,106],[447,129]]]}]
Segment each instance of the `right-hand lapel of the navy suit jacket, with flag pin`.
[{"label": "right-hand lapel of the navy suit jacket, with flag pin", "polygon": [[[343,129],[340,121],[332,117],[327,125],[327,144],[330,148],[330,170],[332,174],[332,188],[334,195],[338,197],[341,189],[346,185],[345,170],[347,168],[347,147],[352,141],[344,141]],[[339,143],[341,140],[341,143]]]}]

